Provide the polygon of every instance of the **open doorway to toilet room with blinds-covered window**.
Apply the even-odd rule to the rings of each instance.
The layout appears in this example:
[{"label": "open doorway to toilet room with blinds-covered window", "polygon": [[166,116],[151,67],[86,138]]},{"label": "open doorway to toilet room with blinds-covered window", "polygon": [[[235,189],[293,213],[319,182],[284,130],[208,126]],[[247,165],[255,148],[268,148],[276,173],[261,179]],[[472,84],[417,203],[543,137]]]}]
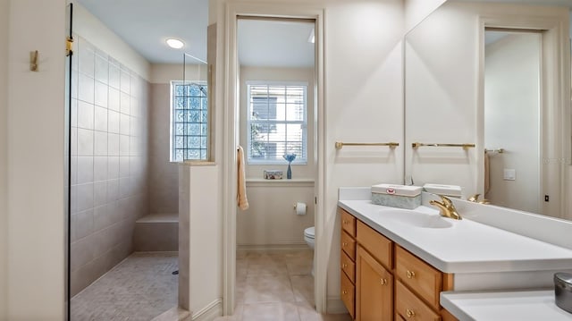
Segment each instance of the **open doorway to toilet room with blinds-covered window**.
[{"label": "open doorway to toilet room with blinds-covered window", "polygon": [[238,21],[249,207],[237,215],[236,300],[244,319],[261,308],[287,317],[315,306],[314,30],[309,19]]}]

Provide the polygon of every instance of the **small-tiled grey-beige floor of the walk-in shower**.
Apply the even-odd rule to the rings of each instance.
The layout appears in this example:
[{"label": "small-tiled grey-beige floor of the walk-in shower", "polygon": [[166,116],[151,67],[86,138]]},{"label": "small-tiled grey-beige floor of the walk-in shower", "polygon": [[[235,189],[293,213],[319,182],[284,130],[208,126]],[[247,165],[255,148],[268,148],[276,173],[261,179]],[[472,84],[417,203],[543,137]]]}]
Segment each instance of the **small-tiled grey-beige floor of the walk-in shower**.
[{"label": "small-tiled grey-beige floor of the walk-in shower", "polygon": [[177,305],[177,254],[133,253],[71,299],[71,321],[148,321]]}]

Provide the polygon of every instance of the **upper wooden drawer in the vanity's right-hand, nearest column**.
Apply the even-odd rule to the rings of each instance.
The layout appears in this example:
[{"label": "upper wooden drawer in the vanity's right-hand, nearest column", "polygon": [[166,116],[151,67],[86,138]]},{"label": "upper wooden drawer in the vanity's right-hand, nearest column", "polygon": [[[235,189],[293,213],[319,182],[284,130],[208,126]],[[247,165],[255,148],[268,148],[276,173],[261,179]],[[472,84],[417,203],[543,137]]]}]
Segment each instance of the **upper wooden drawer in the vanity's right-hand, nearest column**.
[{"label": "upper wooden drawer in the vanity's right-hand, nearest column", "polygon": [[395,275],[431,307],[439,309],[442,273],[406,249],[395,247]]}]

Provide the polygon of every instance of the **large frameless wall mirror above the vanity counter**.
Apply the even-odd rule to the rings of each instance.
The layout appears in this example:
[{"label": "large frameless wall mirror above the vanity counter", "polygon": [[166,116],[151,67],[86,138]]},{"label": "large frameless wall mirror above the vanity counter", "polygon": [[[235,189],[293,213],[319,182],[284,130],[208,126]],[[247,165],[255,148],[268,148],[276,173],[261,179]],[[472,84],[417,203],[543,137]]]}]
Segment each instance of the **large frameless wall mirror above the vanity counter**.
[{"label": "large frameless wall mirror above the vanity counter", "polygon": [[[563,197],[568,185],[564,160],[569,159],[564,156],[570,145],[564,143],[570,126],[569,59],[558,58],[569,58],[569,11],[526,3],[450,0],[408,32],[404,40],[405,181],[419,186],[428,182],[459,185],[465,199],[478,193],[493,205],[572,219],[566,217],[568,200]],[[485,73],[494,68],[492,54],[485,51],[485,27],[543,31],[527,32],[536,38],[534,55],[544,58],[536,67],[527,64],[529,72],[543,71],[539,75],[543,81],[536,80],[536,88],[542,90],[536,89],[538,95],[530,97],[540,107],[528,106],[524,112],[522,102],[509,98],[511,90],[523,89]],[[520,58],[509,56],[513,62]],[[506,63],[504,67],[509,68]],[[524,71],[512,70],[511,76],[517,72]],[[495,81],[514,87],[500,88]],[[534,86],[535,80],[530,81],[529,86]],[[534,89],[526,93],[530,90],[534,93]],[[510,107],[513,104],[518,106]],[[412,148],[416,142],[429,146]],[[499,148],[504,153],[498,153]],[[485,149],[491,151],[485,154]]]}]

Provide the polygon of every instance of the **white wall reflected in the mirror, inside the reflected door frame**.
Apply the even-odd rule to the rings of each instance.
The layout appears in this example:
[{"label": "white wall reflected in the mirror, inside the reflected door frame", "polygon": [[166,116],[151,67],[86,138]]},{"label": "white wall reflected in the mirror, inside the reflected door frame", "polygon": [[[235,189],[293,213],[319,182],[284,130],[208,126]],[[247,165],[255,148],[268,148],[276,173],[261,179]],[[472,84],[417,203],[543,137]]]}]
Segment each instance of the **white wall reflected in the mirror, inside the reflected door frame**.
[{"label": "white wall reflected in the mirror, inside the reflected door frame", "polygon": [[[540,62],[541,35],[509,34],[485,47],[484,146],[489,153],[492,204],[540,213]],[[523,161],[526,160],[526,161]],[[515,181],[503,179],[516,171]]]}]

